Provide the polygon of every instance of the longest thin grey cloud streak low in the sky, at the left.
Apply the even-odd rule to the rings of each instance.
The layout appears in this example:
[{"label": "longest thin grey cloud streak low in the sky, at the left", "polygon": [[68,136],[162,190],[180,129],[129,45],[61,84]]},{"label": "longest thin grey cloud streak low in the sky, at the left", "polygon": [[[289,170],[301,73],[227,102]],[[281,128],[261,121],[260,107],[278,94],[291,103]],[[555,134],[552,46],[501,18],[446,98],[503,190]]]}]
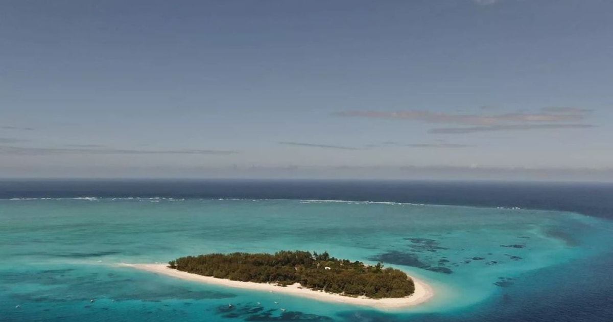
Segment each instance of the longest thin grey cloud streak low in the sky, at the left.
[{"label": "longest thin grey cloud streak low in the sky, at the left", "polygon": [[31,148],[0,145],[2,155],[232,155],[232,150],[122,150],[94,148]]}]

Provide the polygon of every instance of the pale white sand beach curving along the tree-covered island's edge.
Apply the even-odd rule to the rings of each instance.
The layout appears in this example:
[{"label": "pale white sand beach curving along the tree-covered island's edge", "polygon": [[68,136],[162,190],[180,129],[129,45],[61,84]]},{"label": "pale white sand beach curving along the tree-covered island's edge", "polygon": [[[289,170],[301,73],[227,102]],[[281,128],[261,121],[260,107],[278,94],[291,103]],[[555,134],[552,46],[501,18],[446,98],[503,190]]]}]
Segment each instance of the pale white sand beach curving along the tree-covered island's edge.
[{"label": "pale white sand beach curving along the tree-covered island's edge", "polygon": [[256,282],[240,282],[227,280],[224,278],[215,278],[212,276],[198,275],[188,272],[182,272],[176,269],[170,269],[167,264],[126,264],[122,263],[119,266],[133,267],[135,269],[146,270],[156,274],[162,274],[181,278],[183,280],[191,280],[194,282],[202,282],[214,285],[228,286],[232,288],[253,289],[256,291],[273,291],[283,294],[308,297],[318,301],[337,302],[352,305],[364,305],[376,309],[403,309],[414,305],[422,304],[434,296],[432,286],[423,281],[411,277],[415,284],[415,292],[407,297],[387,298],[387,299],[369,299],[367,297],[350,297],[340,294],[326,293],[324,291],[315,291],[313,289],[302,288],[299,283],[287,286],[278,286],[269,283]]}]

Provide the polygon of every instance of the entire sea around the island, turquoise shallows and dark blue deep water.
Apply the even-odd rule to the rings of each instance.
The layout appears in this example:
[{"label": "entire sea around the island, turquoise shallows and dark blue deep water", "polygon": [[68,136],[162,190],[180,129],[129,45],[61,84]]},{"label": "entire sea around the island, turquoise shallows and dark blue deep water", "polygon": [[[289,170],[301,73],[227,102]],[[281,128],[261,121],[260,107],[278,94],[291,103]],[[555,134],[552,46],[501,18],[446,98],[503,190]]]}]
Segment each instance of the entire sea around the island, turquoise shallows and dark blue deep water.
[{"label": "entire sea around the island, turquoise shallows and dark blue deep water", "polygon": [[[381,311],[118,266],[296,249],[435,297]],[[613,184],[2,180],[0,256],[0,321],[613,321]]]}]

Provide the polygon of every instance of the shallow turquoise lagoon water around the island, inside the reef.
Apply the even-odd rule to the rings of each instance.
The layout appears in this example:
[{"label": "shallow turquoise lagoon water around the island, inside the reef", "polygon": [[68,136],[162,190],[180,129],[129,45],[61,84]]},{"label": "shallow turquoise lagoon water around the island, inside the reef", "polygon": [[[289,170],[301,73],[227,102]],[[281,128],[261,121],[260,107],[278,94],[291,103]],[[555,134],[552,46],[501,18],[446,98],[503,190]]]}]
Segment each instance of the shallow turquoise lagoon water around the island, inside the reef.
[{"label": "shallow turquoise lagoon water around the island, inside the reef", "polygon": [[[613,242],[611,221],[577,213],[383,202],[4,199],[0,221],[0,320],[6,321],[391,321],[462,315],[495,299],[512,301],[509,294],[532,286],[526,281],[535,276],[546,281],[547,275],[539,275],[544,270],[597,258]],[[409,309],[373,312],[116,266],[210,252],[295,249],[366,263],[383,260],[432,284],[436,296]],[[555,278],[559,283],[573,276]]]}]

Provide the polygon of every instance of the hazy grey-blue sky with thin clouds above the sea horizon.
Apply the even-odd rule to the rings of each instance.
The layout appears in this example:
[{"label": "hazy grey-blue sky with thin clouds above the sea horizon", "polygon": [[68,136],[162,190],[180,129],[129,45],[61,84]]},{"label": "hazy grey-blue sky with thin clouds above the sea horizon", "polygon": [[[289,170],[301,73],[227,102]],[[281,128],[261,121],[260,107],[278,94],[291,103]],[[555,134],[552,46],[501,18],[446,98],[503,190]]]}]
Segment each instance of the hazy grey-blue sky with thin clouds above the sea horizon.
[{"label": "hazy grey-blue sky with thin clouds above the sea horizon", "polygon": [[0,177],[613,181],[613,1],[0,2]]}]

